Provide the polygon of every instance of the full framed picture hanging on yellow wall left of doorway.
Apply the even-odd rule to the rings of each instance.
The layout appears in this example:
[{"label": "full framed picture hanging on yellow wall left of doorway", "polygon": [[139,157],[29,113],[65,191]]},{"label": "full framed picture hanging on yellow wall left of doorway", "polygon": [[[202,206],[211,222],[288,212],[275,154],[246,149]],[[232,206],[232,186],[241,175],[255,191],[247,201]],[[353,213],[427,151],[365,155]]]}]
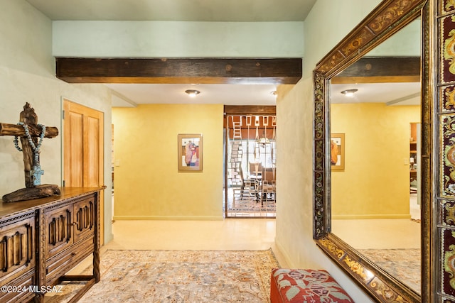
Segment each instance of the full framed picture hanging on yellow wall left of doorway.
[{"label": "full framed picture hanging on yellow wall left of doorway", "polygon": [[178,171],[202,172],[202,135],[198,133],[178,134]]}]

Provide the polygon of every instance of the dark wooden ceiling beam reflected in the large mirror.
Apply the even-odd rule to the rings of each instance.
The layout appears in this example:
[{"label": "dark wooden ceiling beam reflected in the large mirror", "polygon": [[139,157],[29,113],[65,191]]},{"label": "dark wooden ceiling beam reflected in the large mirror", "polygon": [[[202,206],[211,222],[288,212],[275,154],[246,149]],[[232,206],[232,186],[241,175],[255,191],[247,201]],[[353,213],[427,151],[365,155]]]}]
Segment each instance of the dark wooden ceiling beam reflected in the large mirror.
[{"label": "dark wooden ceiling beam reflected in the large mirror", "polygon": [[420,57],[363,57],[331,79],[332,84],[420,82]]}]

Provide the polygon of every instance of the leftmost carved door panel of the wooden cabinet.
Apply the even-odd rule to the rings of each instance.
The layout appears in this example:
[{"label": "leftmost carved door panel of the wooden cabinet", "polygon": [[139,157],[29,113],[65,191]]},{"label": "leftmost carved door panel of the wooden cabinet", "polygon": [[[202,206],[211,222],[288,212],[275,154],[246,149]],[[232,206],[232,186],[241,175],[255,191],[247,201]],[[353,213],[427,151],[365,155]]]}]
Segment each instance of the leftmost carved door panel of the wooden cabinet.
[{"label": "leftmost carved door panel of the wooden cabinet", "polygon": [[0,282],[3,285],[35,266],[34,213],[0,226]]}]

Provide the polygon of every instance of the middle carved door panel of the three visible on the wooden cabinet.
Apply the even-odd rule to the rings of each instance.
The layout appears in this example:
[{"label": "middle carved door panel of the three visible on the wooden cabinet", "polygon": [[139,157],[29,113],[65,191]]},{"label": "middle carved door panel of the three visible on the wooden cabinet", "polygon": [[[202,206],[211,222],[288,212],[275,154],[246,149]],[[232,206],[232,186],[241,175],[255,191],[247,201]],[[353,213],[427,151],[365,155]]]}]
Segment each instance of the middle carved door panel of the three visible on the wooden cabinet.
[{"label": "middle carved door panel of the three visible on the wooden cabinet", "polygon": [[72,214],[73,205],[46,212],[46,258],[50,258],[73,243]]}]

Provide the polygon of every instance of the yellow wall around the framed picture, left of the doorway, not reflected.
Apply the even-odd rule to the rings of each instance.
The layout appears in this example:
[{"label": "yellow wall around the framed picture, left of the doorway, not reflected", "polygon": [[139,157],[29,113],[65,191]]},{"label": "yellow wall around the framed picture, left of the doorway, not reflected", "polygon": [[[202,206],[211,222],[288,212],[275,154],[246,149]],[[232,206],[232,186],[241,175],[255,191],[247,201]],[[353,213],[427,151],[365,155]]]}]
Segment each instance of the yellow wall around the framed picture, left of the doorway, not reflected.
[{"label": "yellow wall around the framed picture, left of the doorway, not reflected", "polygon": [[[114,108],[112,123],[114,219],[223,219],[223,105]],[[203,172],[178,172],[178,133],[203,134]]]}]

